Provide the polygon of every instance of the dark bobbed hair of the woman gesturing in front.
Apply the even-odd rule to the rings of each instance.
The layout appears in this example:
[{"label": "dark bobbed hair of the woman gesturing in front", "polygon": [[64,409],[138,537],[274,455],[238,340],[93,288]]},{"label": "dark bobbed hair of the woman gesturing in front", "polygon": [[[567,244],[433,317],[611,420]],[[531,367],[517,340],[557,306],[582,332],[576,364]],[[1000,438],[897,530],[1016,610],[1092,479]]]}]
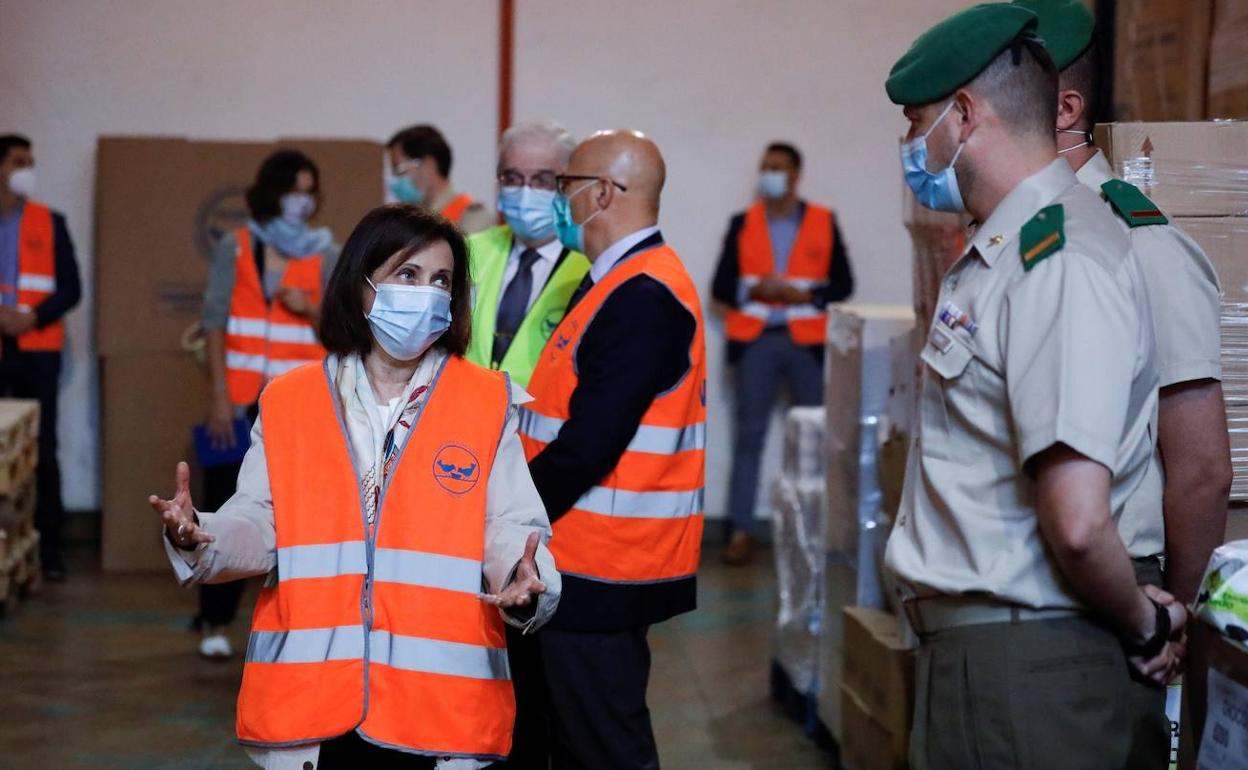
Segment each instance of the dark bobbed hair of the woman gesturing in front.
[{"label": "dark bobbed hair of the woman gesturing in front", "polygon": [[373,333],[361,300],[367,278],[396,253],[403,252],[406,258],[438,241],[451,246],[454,272],[451,277],[451,328],[433,347],[463,356],[472,337],[468,243],[446,217],[406,203],[373,208],[351,231],[321,302],[321,344],[339,356],[366,356],[372,351]]}]

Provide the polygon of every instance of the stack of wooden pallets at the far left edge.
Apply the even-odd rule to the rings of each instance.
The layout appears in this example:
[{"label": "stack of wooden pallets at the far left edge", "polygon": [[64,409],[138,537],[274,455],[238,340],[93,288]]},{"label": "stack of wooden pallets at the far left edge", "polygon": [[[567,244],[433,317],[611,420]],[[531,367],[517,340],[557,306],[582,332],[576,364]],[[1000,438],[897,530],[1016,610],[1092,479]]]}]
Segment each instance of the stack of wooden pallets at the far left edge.
[{"label": "stack of wooden pallets at the far left edge", "polygon": [[39,589],[39,402],[0,399],[0,615]]}]

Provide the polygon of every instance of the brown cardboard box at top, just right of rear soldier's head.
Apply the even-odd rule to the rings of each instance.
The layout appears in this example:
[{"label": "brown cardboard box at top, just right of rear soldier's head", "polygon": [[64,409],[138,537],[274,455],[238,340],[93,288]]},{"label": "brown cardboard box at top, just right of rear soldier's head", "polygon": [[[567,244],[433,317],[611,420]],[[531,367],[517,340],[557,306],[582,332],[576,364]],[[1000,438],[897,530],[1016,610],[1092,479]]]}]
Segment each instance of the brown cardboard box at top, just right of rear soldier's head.
[{"label": "brown cardboard box at top, just right of rear soldier's head", "polygon": [[1209,52],[1211,0],[1117,0],[1114,115],[1126,120],[1201,120]]}]

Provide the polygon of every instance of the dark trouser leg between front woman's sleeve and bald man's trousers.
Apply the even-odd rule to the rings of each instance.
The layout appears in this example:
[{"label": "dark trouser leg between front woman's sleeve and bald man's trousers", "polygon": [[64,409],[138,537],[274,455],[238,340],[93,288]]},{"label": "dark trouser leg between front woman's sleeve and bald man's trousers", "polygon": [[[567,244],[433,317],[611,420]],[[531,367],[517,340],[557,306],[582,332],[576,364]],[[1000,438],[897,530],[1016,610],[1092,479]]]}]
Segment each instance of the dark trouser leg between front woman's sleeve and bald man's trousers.
[{"label": "dark trouser leg between front woman's sleeve and bald man's trousers", "polygon": [[515,689],[515,729],[512,753],[500,768],[507,770],[549,770],[550,704],[545,671],[542,669],[542,643],[538,634],[524,635],[507,626],[507,659]]}]

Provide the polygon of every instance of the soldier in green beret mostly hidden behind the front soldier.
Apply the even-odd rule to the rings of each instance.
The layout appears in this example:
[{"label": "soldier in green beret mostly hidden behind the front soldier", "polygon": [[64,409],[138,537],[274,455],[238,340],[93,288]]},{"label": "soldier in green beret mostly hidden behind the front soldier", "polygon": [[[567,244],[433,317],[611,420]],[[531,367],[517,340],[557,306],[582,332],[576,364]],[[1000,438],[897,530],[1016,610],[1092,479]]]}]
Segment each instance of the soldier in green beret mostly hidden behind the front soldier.
[{"label": "soldier in green beret mostly hidden behind the front soldier", "polygon": [[[1179,602],[1196,599],[1209,554],[1222,543],[1231,489],[1231,447],[1222,401],[1221,285],[1213,263],[1156,203],[1113,173],[1092,144],[1101,94],[1096,20],[1080,0],[1016,0],[1038,19],[1040,36],[1060,70],[1058,155],[1104,200],[1127,237],[1148,288],[1157,338],[1157,452],[1164,479],[1163,517],[1153,505],[1127,508],[1118,532],[1137,577],[1162,583]],[[1162,559],[1164,554],[1164,559]]]}]

